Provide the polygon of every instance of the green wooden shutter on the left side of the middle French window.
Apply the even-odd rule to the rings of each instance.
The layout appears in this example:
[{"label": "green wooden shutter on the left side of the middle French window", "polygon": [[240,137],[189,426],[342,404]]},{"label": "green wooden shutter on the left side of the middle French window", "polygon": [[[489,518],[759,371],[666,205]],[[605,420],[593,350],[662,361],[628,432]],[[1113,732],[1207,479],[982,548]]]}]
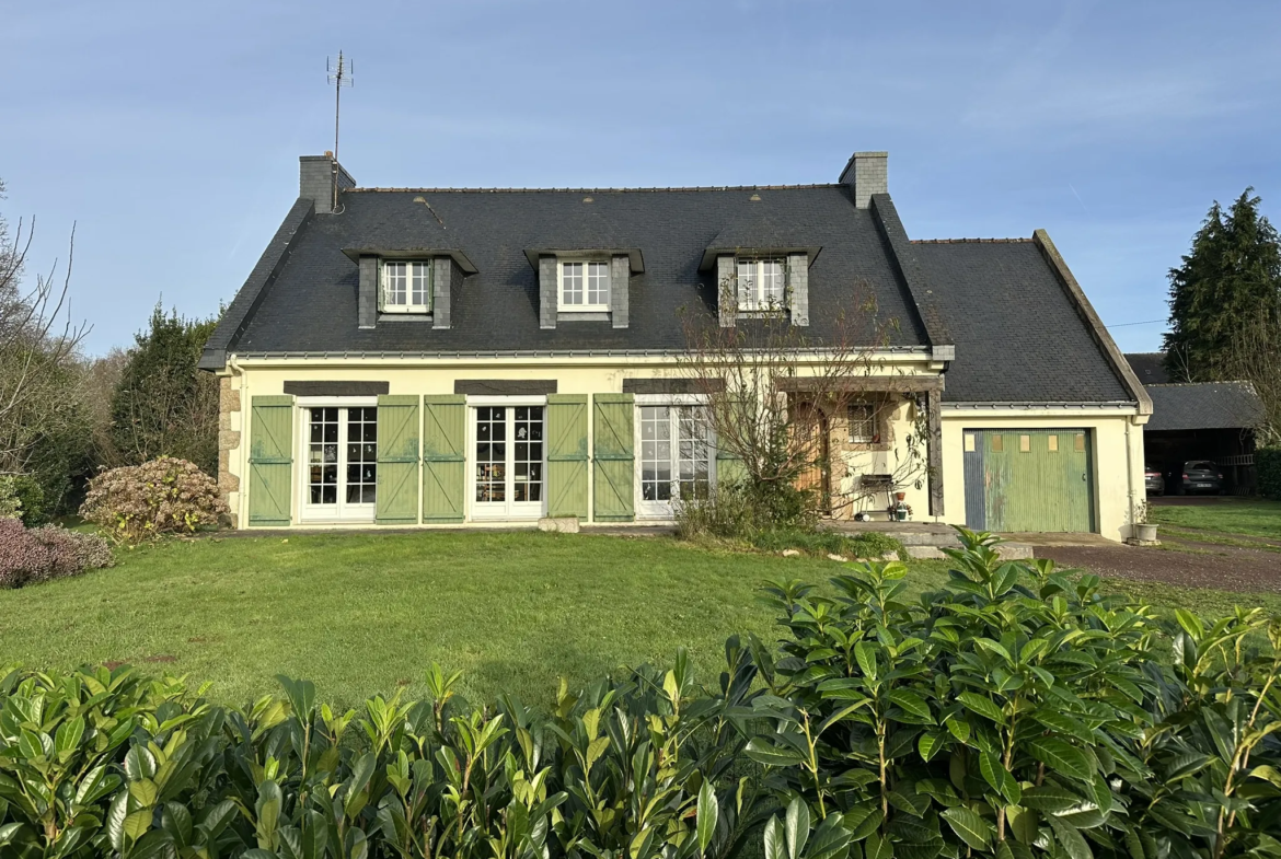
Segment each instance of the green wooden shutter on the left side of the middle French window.
[{"label": "green wooden shutter on the left side of the middle French window", "polygon": [[461,522],[466,486],[468,398],[423,397],[423,521]]}]

